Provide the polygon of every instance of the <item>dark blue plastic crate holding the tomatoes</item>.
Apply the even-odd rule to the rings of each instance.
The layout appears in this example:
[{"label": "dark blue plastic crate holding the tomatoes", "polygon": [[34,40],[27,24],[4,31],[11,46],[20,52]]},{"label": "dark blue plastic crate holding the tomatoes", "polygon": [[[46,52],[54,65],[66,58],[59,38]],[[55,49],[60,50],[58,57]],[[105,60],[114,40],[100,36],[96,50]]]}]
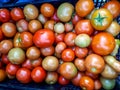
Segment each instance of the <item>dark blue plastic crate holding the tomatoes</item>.
[{"label": "dark blue plastic crate holding the tomatoes", "polygon": [[[77,1],[78,0],[0,0],[0,8],[5,7],[11,9],[13,7],[23,7],[28,3],[35,4],[39,7],[44,2],[52,3],[55,7],[57,7],[63,2],[70,2],[73,5],[75,5]],[[99,8],[109,0],[93,0],[93,1],[95,7]],[[116,20],[120,24],[120,16]],[[120,39],[120,34],[116,36],[116,38]],[[120,48],[116,57],[118,60],[120,60]],[[62,86],[59,85],[58,83],[54,85],[48,85],[44,82],[39,84],[34,82],[31,82],[29,84],[22,84],[16,79],[13,80],[8,79],[0,83],[0,90],[80,90],[80,87],[76,87],[72,84]],[[114,90],[120,90],[120,76],[118,76],[118,78],[116,79],[116,86]]]}]

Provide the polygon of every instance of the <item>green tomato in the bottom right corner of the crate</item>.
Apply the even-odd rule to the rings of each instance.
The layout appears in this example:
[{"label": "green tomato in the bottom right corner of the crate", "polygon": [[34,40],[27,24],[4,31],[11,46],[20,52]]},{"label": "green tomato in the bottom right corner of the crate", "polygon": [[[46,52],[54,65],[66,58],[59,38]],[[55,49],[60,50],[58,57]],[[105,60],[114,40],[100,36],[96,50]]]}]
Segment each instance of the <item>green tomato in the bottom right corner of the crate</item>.
[{"label": "green tomato in the bottom right corner of the crate", "polygon": [[105,90],[112,90],[115,87],[115,79],[107,79],[100,77],[100,82],[102,83],[102,87]]}]

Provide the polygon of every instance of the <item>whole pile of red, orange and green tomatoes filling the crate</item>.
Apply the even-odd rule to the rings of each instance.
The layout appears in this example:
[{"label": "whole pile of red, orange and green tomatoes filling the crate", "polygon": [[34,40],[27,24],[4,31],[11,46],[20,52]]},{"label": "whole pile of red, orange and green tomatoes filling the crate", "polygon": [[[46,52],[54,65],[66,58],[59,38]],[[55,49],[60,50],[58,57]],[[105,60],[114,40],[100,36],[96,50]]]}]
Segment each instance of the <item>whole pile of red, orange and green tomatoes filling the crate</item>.
[{"label": "whole pile of red, orange and green tomatoes filling the crate", "polygon": [[84,90],[110,90],[120,73],[120,2],[0,9],[0,82],[72,83]]}]

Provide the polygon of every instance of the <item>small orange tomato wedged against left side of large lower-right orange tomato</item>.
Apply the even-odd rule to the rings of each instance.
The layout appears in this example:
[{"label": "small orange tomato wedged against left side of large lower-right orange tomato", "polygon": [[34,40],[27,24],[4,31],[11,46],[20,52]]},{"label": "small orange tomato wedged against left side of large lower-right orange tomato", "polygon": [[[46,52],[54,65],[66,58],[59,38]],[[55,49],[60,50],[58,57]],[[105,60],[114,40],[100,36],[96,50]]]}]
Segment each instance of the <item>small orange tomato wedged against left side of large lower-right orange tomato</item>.
[{"label": "small orange tomato wedged against left side of large lower-right orange tomato", "polygon": [[84,59],[76,58],[74,60],[74,64],[79,71],[85,71],[86,70]]}]

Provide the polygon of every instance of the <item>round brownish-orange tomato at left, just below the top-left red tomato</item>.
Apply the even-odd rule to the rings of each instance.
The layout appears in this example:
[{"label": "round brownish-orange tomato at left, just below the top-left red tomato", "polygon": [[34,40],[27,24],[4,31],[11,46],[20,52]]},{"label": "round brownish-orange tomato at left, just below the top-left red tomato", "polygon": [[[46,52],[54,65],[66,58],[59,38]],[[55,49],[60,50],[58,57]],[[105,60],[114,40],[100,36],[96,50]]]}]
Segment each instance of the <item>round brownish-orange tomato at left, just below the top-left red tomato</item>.
[{"label": "round brownish-orange tomato at left, just below the top-left red tomato", "polygon": [[13,37],[17,30],[15,24],[11,22],[6,22],[2,24],[2,32],[6,37]]}]

